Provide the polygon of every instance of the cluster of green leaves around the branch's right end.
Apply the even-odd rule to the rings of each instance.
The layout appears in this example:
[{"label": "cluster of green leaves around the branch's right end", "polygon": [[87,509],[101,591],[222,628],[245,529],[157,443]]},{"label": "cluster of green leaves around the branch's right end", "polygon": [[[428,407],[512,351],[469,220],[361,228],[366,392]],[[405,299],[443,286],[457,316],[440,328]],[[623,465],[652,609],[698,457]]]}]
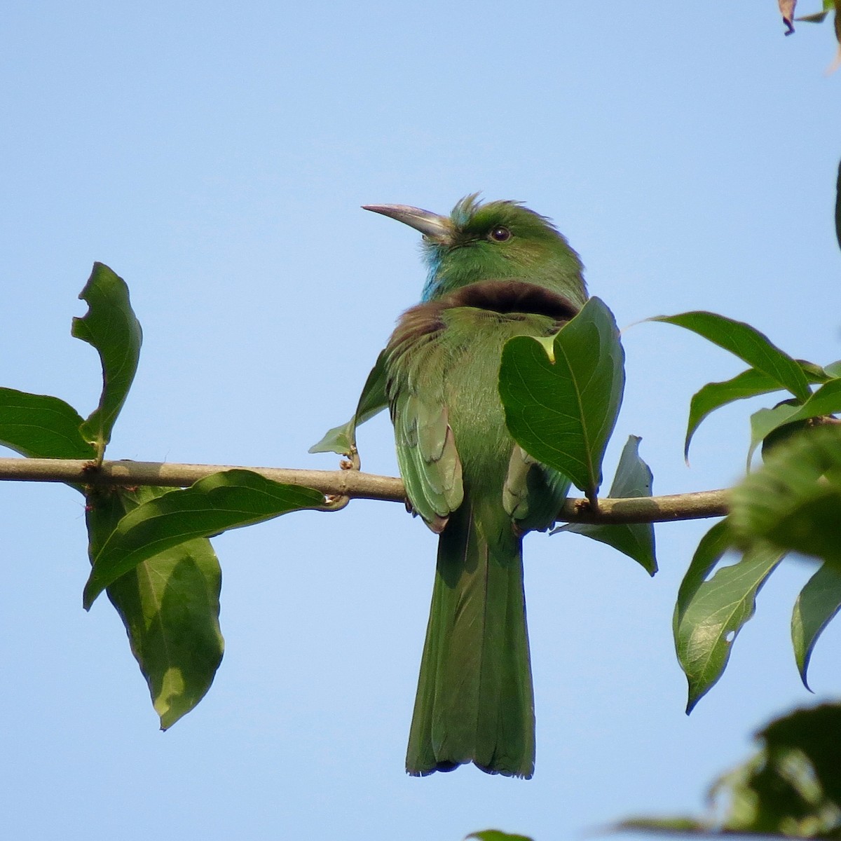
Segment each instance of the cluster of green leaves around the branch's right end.
[{"label": "cluster of green leaves around the branch's right end", "polygon": [[[701,540],[680,587],[674,637],[689,681],[688,710],[721,677],[733,640],[753,616],[756,595],[791,550],[828,564],[804,587],[792,616],[801,678],[822,630],[838,612],[841,585],[829,569],[841,565],[841,411],[838,363],[825,368],[795,360],[753,327],[711,313],[661,316],[705,336],[753,368],[725,383],[708,383],[692,399],[685,447],[711,411],[745,397],[787,390],[793,397],[751,416],[748,465],[763,444],[765,464],[733,490],[732,513]],[[812,393],[810,383],[818,384]],[[742,558],[705,580],[723,554]],[[841,566],[838,566],[841,569]]]}]

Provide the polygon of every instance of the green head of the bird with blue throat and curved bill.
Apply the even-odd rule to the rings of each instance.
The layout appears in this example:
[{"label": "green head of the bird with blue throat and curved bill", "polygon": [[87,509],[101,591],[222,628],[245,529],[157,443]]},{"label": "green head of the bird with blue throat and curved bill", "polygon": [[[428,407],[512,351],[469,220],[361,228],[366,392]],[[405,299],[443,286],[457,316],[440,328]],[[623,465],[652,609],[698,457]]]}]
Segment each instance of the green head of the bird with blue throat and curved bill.
[{"label": "green head of the bird with blue throat and curved bill", "polygon": [[365,209],[424,235],[429,266],[424,300],[469,283],[513,279],[551,289],[579,305],[587,298],[579,256],[545,216],[519,202],[482,204],[471,195],[449,216],[405,204],[369,204]]}]

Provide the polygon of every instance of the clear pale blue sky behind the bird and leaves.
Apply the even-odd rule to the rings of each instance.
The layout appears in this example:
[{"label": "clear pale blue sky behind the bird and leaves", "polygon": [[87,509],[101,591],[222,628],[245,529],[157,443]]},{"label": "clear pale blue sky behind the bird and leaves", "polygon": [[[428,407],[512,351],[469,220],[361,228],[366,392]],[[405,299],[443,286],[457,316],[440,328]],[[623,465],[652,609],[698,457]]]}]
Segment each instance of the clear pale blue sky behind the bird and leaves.
[{"label": "clear pale blue sky behind the bird and leaves", "polygon": [[[801,0],[801,13],[819,3]],[[711,309],[796,357],[841,357],[831,24],[791,38],[759,3],[8,3],[0,11],[0,384],[82,415],[98,360],[69,336],[94,260],[145,330],[111,458],[335,468],[346,420],[415,303],[418,235],[361,204],[465,193],[551,216],[620,325]],[[750,405],[690,395],[743,366],[628,326],[607,470],[643,436],[655,491],[743,470]],[[362,465],[396,471],[387,418]],[[435,537],[358,501],[214,541],[225,659],[160,733],[119,618],[87,577],[81,498],[0,487],[3,838],[581,837],[694,812],[750,733],[812,701],[788,641],[809,570],[759,597],[725,677],[684,714],[671,612],[708,523],[658,527],[654,579],[583,537],[526,540],[533,780],[407,777]],[[812,664],[838,690],[841,629]]]}]

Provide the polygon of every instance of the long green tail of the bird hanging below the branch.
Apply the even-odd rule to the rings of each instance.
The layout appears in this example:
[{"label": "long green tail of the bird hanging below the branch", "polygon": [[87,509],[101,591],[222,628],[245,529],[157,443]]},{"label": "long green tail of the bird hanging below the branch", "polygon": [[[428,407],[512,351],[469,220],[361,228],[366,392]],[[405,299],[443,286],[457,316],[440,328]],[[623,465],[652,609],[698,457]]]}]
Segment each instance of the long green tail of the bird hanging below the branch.
[{"label": "long green tail of the bird hanging below the branch", "polygon": [[442,532],[406,754],[411,775],[473,762],[489,774],[532,776],[521,547],[499,504],[474,510],[464,500]]}]

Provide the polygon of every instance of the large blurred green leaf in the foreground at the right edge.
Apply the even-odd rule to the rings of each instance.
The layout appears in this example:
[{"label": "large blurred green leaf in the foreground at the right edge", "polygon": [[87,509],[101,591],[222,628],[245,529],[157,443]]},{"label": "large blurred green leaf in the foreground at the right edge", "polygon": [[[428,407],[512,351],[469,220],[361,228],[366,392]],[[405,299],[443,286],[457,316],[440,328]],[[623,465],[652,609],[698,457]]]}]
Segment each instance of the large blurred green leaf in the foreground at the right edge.
[{"label": "large blurred green leaf in the foreground at the right edge", "polygon": [[749,544],[768,540],[841,564],[841,428],[803,431],[733,489],[730,521]]}]

